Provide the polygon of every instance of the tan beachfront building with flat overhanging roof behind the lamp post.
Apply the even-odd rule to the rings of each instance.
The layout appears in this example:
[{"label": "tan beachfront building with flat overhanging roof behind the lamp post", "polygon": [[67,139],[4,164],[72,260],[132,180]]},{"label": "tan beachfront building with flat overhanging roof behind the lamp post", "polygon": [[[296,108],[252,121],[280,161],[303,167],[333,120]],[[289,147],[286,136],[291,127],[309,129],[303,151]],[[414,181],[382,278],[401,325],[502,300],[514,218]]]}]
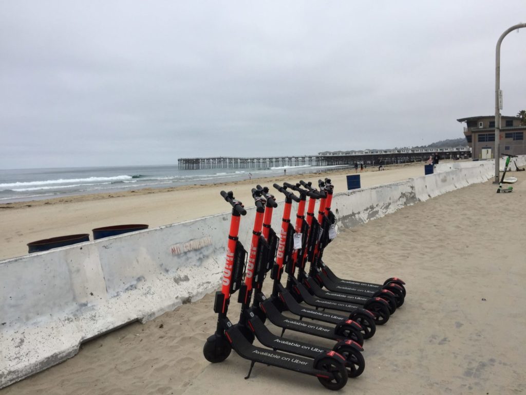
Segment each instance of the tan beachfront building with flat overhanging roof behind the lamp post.
[{"label": "tan beachfront building with flat overhanging roof behind the lamp post", "polygon": [[[495,157],[495,116],[472,116],[460,118],[458,122],[466,122],[464,136],[471,147],[473,159],[492,159]],[[517,116],[501,116],[500,122],[500,153],[512,155],[526,154],[524,132],[526,125],[521,125]]]}]

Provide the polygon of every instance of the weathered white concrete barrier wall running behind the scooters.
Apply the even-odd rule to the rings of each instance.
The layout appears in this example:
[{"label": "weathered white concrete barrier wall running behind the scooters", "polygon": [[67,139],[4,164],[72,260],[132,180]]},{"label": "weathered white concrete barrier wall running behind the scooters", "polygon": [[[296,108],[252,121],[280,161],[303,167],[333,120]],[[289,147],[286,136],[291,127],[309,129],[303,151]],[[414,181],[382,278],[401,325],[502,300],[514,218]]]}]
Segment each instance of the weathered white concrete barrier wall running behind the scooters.
[{"label": "weathered white concrete barrier wall running behind the scooters", "polygon": [[[453,165],[335,194],[332,209],[339,225],[366,222],[493,176],[493,161]],[[281,208],[272,221],[275,229]],[[247,211],[240,232],[245,248],[255,210]],[[215,290],[229,218],[218,214],[0,262],[0,388],[74,356],[83,341]]]}]

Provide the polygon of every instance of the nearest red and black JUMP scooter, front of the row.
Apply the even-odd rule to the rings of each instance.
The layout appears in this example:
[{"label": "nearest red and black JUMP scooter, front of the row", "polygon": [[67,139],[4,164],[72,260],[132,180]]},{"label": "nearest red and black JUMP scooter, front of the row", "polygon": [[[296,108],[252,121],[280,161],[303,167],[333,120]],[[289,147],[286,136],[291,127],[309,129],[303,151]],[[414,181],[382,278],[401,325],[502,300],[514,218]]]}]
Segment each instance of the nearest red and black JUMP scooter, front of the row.
[{"label": "nearest red and black JUMP scooter, front of the row", "polygon": [[241,202],[234,199],[232,192],[221,191],[221,196],[232,206],[232,216],[222,287],[221,291],[216,292],[214,301],[214,311],[218,314],[217,327],[216,332],[207,339],[203,347],[205,358],[210,362],[224,361],[234,348],[240,357],[251,361],[247,379],[254,364],[259,362],[316,376],[323,386],[331,390],[343,388],[347,383],[345,358],[337,352],[321,352],[317,358],[309,359],[256,347],[247,340],[238,325],[232,324],[228,319],[230,296],[239,289],[242,281],[246,251],[238,240],[238,234],[241,215],[247,212]]}]

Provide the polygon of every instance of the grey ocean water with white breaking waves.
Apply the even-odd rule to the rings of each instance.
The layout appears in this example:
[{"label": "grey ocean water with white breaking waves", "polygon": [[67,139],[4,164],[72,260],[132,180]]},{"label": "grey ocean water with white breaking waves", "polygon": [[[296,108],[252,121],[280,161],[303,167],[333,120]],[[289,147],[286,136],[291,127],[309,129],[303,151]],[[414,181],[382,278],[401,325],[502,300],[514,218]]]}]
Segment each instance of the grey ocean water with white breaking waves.
[{"label": "grey ocean water with white breaking waves", "polygon": [[69,167],[0,170],[0,203],[51,199],[67,195],[131,191],[179,185],[212,184],[345,166],[281,166],[267,169],[179,170],[177,165]]}]

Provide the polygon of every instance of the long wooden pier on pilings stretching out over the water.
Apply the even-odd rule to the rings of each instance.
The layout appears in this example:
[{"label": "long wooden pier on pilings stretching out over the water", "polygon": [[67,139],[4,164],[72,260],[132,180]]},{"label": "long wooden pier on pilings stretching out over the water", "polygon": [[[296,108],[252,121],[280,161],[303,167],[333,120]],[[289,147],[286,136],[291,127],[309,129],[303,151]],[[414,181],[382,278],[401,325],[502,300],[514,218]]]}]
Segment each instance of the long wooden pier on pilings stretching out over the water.
[{"label": "long wooden pier on pilings stretching out over the water", "polygon": [[363,163],[367,166],[400,164],[427,161],[429,155],[438,152],[441,159],[468,159],[469,147],[451,149],[386,150],[365,152],[337,152],[325,155],[266,156],[266,157],[194,157],[179,158],[181,170],[200,169],[268,169],[282,166],[352,166]]}]

